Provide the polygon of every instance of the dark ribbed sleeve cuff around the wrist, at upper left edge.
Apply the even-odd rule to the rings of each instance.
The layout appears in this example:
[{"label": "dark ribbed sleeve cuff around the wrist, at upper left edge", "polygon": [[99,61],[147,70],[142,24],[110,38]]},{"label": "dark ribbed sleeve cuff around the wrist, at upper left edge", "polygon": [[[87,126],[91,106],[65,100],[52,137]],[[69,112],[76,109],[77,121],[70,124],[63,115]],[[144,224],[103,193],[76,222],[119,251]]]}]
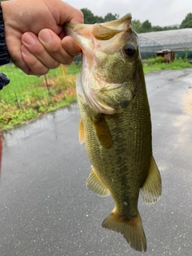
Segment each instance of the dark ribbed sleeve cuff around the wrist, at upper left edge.
[{"label": "dark ribbed sleeve cuff around the wrist, at upper left edge", "polygon": [[0,66],[10,62],[10,54],[6,47],[5,26],[2,15],[2,2],[0,2]]}]

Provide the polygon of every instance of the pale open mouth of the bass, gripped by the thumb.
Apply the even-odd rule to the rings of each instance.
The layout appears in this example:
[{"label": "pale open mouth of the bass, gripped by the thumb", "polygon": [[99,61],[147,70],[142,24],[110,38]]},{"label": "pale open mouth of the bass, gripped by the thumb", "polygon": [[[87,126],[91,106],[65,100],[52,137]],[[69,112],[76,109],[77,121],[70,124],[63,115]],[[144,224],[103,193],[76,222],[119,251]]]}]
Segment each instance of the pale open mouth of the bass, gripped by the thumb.
[{"label": "pale open mouth of the bass, gripped by the thumb", "polygon": [[102,41],[109,40],[114,35],[132,28],[131,18],[132,15],[129,13],[122,18],[110,22],[95,24],[66,23],[65,30],[66,34],[72,36],[83,51],[85,46],[90,45],[91,38]]}]

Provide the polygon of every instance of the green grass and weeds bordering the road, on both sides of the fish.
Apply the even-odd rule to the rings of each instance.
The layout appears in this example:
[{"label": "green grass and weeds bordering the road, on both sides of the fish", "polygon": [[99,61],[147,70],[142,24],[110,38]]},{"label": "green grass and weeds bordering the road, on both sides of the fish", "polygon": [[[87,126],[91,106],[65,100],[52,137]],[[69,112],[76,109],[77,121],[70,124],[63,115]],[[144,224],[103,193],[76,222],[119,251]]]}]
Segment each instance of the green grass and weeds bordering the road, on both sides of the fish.
[{"label": "green grass and weeds bordering the road, on both sides of the fish", "polygon": [[[162,61],[161,57],[146,60],[143,62],[144,73],[192,68],[187,61],[187,53],[183,59],[176,56],[172,63]],[[14,65],[2,66],[1,72],[7,74],[11,82],[0,91],[0,130],[10,129],[75,102],[75,81],[80,68],[80,64],[73,63],[36,78],[26,76]]]}]

